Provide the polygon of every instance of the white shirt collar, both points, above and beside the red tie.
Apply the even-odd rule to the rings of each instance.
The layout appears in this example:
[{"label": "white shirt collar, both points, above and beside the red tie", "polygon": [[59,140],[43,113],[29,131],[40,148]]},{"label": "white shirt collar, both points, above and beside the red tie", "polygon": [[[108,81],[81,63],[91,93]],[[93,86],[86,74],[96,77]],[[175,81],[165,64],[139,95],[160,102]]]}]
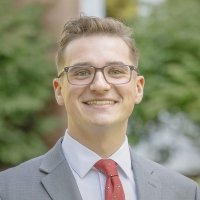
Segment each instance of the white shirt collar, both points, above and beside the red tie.
[{"label": "white shirt collar, both points, above and beside the red tie", "polygon": [[[62,149],[70,167],[81,178],[83,178],[93,168],[94,164],[101,159],[95,152],[73,139],[67,131],[63,138]],[[127,177],[130,177],[129,175],[132,172],[132,169],[127,137],[122,146],[110,157],[110,159],[114,160],[119,165],[120,169],[122,169]]]}]

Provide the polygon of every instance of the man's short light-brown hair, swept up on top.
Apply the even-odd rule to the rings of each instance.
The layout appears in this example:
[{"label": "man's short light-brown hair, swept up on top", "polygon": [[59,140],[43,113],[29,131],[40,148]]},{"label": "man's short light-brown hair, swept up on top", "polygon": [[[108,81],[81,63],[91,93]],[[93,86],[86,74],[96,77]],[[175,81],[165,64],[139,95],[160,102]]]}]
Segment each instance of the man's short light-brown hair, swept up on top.
[{"label": "man's short light-brown hair, swept up on top", "polygon": [[64,25],[56,56],[57,70],[59,71],[64,67],[63,52],[71,41],[83,36],[98,34],[120,37],[128,45],[131,59],[136,65],[138,64],[137,49],[132,38],[133,30],[131,28],[111,17],[80,16],[69,20]]}]

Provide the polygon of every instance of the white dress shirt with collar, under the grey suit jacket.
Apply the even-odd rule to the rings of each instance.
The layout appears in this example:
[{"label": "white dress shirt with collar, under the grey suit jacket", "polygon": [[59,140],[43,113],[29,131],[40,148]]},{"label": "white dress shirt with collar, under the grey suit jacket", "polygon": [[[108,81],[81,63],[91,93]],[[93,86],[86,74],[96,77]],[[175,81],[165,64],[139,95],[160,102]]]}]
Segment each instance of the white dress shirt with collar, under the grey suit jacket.
[{"label": "white dress shirt with collar, under the grey suit jacket", "polygon": [[[94,164],[101,157],[74,140],[67,131],[62,142],[62,149],[83,200],[105,200],[106,177],[94,168]],[[119,166],[119,177],[126,200],[136,200],[135,181],[127,137],[110,159],[114,160]]]}]

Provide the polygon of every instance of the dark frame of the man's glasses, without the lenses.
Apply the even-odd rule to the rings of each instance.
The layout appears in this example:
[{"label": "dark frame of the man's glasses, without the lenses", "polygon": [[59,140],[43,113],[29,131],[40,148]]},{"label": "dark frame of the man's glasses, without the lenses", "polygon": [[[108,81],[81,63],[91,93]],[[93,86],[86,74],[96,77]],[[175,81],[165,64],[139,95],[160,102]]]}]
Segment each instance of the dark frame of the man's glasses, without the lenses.
[{"label": "dark frame of the man's glasses, without the lenses", "polygon": [[[103,74],[103,77],[104,77],[105,81],[106,81],[108,84],[114,84],[114,85],[122,85],[122,84],[129,83],[129,82],[131,81],[131,74],[132,74],[132,71],[135,71],[135,72],[137,73],[137,75],[139,75],[139,69],[138,69],[136,66],[134,66],[134,65],[125,65],[125,64],[123,64],[123,65],[121,65],[121,67],[123,67],[123,66],[128,66],[129,69],[131,70],[129,80],[128,80],[127,82],[125,82],[125,83],[119,83],[119,84],[110,83],[110,82],[106,79],[105,74],[104,74],[104,68],[105,68],[105,67],[109,67],[109,66],[110,66],[110,65],[105,65],[105,66],[103,66],[103,67],[101,67],[101,68],[97,68],[97,67],[94,67],[94,66],[91,65],[90,67],[94,68],[94,70],[95,70],[95,71],[94,71],[94,77],[93,77],[93,79],[92,79],[89,83],[83,84],[83,85],[89,85],[89,84],[91,84],[91,83],[94,81],[94,78],[95,78],[95,75],[96,75],[97,71],[101,71],[101,73]],[[60,77],[63,75],[63,73],[66,72],[66,73],[67,73],[67,80],[68,80],[68,82],[69,82],[71,85],[81,85],[81,84],[74,84],[74,83],[71,83],[71,82],[69,81],[69,78],[68,78],[68,71],[69,71],[70,68],[73,68],[73,67],[78,67],[78,66],[76,66],[76,65],[71,65],[71,66],[64,67],[63,70],[58,74],[57,78],[60,78]]]}]

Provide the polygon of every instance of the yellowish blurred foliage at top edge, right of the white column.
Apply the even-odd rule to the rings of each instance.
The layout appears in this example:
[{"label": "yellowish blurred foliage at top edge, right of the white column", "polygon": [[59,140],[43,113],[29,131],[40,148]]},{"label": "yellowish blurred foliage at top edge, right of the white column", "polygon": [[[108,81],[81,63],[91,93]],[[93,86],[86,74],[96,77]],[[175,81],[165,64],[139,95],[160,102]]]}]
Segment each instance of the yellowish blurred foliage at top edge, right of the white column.
[{"label": "yellowish blurred foliage at top edge, right of the white column", "polygon": [[130,20],[136,16],[136,0],[106,0],[106,13],[109,17]]}]

